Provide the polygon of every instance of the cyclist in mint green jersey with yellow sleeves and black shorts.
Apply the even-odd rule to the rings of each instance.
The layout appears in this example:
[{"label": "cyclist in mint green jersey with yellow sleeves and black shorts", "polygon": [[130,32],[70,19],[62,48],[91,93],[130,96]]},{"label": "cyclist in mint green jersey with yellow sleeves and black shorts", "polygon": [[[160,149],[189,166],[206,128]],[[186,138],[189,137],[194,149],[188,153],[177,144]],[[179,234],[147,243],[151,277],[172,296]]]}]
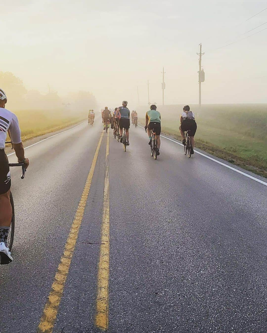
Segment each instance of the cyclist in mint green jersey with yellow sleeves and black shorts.
[{"label": "cyclist in mint green jersey with yellow sleeves and black shorts", "polygon": [[154,129],[156,132],[156,140],[157,140],[157,155],[159,155],[159,147],[160,147],[160,133],[161,133],[161,117],[160,113],[156,111],[157,107],[152,104],[150,106],[150,110],[145,114],[145,129],[147,129],[147,134],[149,137],[148,145],[151,145],[152,137],[151,131]]}]

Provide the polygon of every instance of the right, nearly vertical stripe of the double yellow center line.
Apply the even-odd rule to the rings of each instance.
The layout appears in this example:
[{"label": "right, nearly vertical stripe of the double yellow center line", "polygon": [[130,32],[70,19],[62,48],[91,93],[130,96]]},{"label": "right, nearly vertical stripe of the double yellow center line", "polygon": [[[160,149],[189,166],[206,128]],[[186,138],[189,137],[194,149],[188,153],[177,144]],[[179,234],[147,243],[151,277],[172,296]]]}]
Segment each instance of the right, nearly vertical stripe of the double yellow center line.
[{"label": "right, nearly vertical stripe of the double yellow center line", "polygon": [[[108,132],[109,133],[109,132]],[[101,245],[97,277],[97,304],[95,325],[107,330],[109,326],[109,267],[110,267],[110,179],[109,136],[107,137]]]}]

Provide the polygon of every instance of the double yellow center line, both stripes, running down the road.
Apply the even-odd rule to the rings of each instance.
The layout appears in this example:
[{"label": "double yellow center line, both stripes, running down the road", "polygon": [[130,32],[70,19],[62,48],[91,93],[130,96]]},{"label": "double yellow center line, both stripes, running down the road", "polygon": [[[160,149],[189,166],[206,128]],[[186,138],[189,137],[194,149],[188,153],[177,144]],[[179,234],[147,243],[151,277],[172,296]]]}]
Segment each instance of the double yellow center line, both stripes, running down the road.
[{"label": "double yellow center line, both stripes, running down the road", "polygon": [[[52,284],[44,311],[38,325],[37,333],[52,333],[55,320],[58,314],[59,304],[63,295],[63,290],[67,275],[69,272],[71,259],[74,253],[79,229],[81,226],[82,218],[91,188],[91,183],[94,175],[97,158],[103,139],[104,133],[102,132],[98,146],[93,158],[93,162],[88,173],[85,187],[79,202],[71,230],[65,244],[63,255],[55,274],[54,282]],[[109,135],[109,133],[108,133]],[[98,267],[98,281],[97,281],[97,304],[96,304],[96,318],[95,324],[98,328],[107,330],[109,321],[108,311],[108,285],[109,285],[109,223],[110,223],[110,195],[109,195],[109,136],[107,137],[106,148],[106,166],[105,166],[105,184],[104,184],[104,198],[103,198],[103,214],[102,214],[102,227],[101,227],[101,247]]]}]

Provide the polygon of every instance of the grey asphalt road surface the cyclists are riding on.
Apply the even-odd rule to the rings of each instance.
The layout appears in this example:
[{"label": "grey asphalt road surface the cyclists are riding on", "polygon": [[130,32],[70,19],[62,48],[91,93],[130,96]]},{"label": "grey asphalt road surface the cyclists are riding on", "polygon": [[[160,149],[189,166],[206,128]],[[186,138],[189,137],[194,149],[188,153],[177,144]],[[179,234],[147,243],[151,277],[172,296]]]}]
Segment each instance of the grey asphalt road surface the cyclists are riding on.
[{"label": "grey asphalt road surface the cyclists are riding on", "polygon": [[0,332],[37,332],[103,132],[53,332],[100,331],[108,170],[108,332],[266,333],[266,185],[188,159],[164,138],[154,161],[141,128],[130,128],[125,153],[101,126],[83,123],[28,148],[24,180],[12,169],[14,262],[0,266]]}]

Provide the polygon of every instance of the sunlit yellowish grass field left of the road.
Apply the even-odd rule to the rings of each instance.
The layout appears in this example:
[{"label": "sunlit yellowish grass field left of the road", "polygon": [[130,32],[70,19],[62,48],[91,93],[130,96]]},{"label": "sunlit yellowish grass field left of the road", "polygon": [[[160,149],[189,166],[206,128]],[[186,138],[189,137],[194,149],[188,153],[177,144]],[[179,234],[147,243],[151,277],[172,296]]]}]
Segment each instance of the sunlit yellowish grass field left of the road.
[{"label": "sunlit yellowish grass field left of the road", "polygon": [[66,114],[64,110],[16,111],[15,114],[19,119],[22,141],[60,130],[86,118],[82,114]]}]

